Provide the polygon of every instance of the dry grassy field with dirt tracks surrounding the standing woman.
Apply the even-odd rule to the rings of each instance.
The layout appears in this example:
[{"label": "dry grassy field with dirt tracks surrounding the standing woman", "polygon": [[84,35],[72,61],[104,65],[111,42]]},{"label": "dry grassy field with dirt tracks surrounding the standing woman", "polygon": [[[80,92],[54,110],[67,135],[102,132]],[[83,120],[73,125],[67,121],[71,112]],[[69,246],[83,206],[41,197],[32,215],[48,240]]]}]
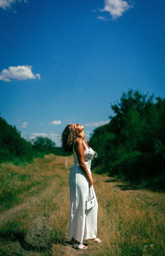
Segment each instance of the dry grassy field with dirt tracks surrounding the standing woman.
[{"label": "dry grassy field with dirt tracks surrounding the standing woman", "polygon": [[0,167],[0,255],[165,255],[165,195],[93,174],[100,244],[68,245],[69,170],[73,156]]}]

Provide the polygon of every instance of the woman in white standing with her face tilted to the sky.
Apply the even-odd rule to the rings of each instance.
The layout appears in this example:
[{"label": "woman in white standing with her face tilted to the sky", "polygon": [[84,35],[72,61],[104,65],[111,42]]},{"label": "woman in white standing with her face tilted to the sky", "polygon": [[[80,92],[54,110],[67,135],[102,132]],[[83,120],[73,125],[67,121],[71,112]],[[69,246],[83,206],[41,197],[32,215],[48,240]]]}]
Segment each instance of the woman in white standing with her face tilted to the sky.
[{"label": "woman in white standing with her face tilted to the sky", "polygon": [[[92,239],[94,242],[101,242],[96,238],[97,234],[97,210],[98,203],[93,189],[91,176],[91,159],[97,157],[85,141],[84,126],[69,124],[62,133],[62,146],[64,151],[74,153],[74,165],[69,175],[70,187],[70,219],[69,239],[77,249],[87,249],[83,240]],[[92,188],[92,190],[91,190]],[[85,201],[95,197],[95,206],[85,210]]]}]

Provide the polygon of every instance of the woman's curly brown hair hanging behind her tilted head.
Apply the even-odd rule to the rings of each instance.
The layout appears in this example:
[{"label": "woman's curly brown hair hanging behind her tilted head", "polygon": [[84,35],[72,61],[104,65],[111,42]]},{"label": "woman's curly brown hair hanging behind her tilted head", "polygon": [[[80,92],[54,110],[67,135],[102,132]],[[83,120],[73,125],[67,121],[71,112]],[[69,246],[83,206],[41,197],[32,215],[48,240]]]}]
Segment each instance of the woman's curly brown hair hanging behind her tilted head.
[{"label": "woman's curly brown hair hanging behind her tilted head", "polygon": [[70,124],[68,124],[65,127],[61,138],[61,147],[63,147],[65,152],[70,153],[73,151],[73,145],[77,138],[82,138],[82,136],[77,133]]}]

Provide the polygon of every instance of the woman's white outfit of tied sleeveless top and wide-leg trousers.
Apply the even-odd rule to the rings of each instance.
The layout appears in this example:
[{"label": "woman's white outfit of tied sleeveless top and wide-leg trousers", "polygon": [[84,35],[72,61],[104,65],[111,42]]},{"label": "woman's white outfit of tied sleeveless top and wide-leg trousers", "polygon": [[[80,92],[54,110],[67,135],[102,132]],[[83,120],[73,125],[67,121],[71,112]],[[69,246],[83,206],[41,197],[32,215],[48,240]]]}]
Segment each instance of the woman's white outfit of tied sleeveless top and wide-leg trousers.
[{"label": "woman's white outfit of tied sleeveless top and wide-leg trousers", "polygon": [[[83,141],[82,141],[83,142]],[[75,142],[74,142],[75,143]],[[83,142],[85,145],[85,143]],[[91,148],[84,150],[84,162],[91,176],[91,159],[93,155],[97,157],[95,151]],[[73,147],[74,152],[74,147]],[[78,242],[83,240],[96,238],[97,234],[97,210],[98,203],[94,188],[92,185],[93,195],[95,197],[95,206],[90,210],[85,210],[85,201],[88,198],[92,198],[91,188],[89,189],[89,183],[86,176],[80,169],[77,155],[74,152],[74,165],[69,175],[69,187],[70,187],[70,219],[69,219],[69,239],[72,237]]]}]

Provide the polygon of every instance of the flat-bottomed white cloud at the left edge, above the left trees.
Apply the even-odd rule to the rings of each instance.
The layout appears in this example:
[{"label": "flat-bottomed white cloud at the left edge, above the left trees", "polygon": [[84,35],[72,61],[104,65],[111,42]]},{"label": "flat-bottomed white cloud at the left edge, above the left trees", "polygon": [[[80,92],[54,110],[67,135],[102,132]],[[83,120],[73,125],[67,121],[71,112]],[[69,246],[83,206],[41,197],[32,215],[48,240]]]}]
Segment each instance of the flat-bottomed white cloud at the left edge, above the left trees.
[{"label": "flat-bottomed white cloud at the left edge, above the left trees", "polygon": [[31,72],[32,67],[25,66],[17,66],[17,67],[9,67],[8,69],[3,69],[0,73],[0,80],[5,82],[11,82],[11,79],[15,80],[27,80],[27,79],[40,79],[40,75],[34,75]]}]

